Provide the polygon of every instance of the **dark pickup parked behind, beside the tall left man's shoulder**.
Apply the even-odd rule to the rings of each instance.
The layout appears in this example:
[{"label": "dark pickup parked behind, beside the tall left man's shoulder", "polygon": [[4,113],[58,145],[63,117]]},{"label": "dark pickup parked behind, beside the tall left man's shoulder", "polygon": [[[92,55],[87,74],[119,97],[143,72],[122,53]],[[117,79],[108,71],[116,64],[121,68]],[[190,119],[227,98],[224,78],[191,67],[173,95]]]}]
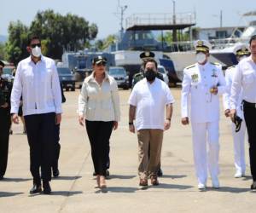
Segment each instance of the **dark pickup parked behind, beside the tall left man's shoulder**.
[{"label": "dark pickup parked behind, beside the tall left man's shoulder", "polygon": [[67,91],[71,89],[75,90],[75,78],[73,73],[68,67],[57,67],[57,72],[59,74],[59,79],[62,84],[63,89]]}]

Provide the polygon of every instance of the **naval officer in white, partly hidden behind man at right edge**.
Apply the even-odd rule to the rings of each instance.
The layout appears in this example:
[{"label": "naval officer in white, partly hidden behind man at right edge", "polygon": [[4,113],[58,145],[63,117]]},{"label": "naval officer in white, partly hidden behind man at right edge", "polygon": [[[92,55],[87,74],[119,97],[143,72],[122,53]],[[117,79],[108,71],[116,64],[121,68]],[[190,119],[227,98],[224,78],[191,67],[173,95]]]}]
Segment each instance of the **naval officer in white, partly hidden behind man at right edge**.
[{"label": "naval officer in white, partly hidden behind man at right edge", "polygon": [[[234,54],[236,55],[237,61],[240,61],[247,56],[250,55],[249,50],[247,49],[246,44],[239,43],[236,45],[234,49]],[[230,117],[230,90],[231,85],[234,79],[234,75],[236,72],[236,66],[230,66],[225,72],[225,80],[227,84],[227,91],[223,95],[223,102],[224,102],[224,114],[226,117]],[[243,111],[242,111],[242,99],[241,99],[241,92],[237,101],[236,107],[236,115],[241,118],[240,130],[237,128],[236,125],[232,124],[232,136],[233,136],[233,143],[234,143],[234,158],[235,158],[235,167],[236,173],[235,177],[239,178],[245,175],[246,170],[246,162],[244,156],[244,141],[245,141],[245,133],[246,133],[246,124],[244,121]]]}]

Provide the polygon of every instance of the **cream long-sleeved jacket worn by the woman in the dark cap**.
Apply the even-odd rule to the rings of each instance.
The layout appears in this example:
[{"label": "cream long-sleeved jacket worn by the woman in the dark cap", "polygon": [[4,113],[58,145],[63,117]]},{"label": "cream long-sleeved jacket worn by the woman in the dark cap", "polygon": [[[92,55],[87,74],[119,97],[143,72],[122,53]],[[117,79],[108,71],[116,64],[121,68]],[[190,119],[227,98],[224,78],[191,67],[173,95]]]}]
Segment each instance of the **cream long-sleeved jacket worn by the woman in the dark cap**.
[{"label": "cream long-sleeved jacket worn by the woman in the dark cap", "polygon": [[84,79],[79,95],[79,115],[90,121],[119,121],[119,93],[116,81],[106,74],[102,85],[96,82],[94,72]]}]

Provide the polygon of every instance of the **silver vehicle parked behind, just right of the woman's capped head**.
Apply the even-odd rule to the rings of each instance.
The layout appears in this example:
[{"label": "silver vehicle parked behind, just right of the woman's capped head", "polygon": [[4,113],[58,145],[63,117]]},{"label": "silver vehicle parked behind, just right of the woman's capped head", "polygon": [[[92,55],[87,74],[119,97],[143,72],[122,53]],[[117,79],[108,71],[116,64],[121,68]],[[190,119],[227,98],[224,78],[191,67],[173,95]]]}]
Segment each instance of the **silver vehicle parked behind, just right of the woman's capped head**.
[{"label": "silver vehicle parked behind, just right of the woman's capped head", "polygon": [[110,66],[108,69],[108,75],[112,76],[118,87],[123,89],[129,89],[129,77],[122,66]]}]

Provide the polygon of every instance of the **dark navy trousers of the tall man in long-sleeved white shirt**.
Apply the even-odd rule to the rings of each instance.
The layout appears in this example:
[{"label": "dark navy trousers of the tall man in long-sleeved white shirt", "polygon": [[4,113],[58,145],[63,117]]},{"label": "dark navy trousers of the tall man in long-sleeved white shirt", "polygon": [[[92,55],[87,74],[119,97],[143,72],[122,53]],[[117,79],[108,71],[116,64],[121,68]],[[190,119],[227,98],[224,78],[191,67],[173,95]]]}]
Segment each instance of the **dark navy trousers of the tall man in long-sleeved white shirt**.
[{"label": "dark navy trousers of the tall man in long-sleeved white shirt", "polygon": [[[27,141],[30,147],[30,171],[36,184],[51,180],[55,148],[55,112],[27,115]],[[41,176],[40,176],[41,167]]]}]

